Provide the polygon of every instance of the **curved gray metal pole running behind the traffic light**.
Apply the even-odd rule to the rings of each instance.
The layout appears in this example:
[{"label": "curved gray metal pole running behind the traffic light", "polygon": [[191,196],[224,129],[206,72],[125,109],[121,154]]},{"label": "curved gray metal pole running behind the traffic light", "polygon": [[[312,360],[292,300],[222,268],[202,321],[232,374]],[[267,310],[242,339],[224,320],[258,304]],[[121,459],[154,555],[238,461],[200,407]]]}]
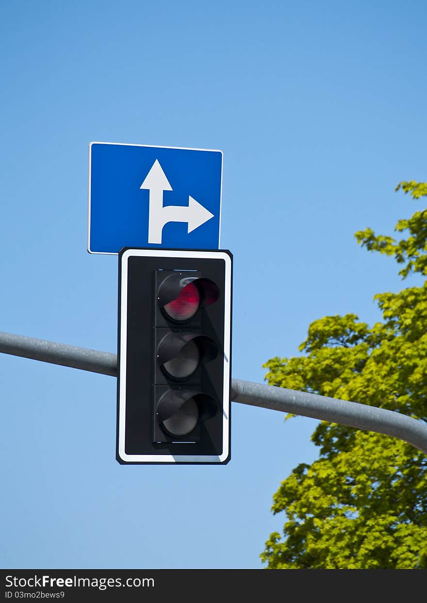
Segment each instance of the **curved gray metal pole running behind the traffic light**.
[{"label": "curved gray metal pole running behind the traffic light", "polygon": [[[0,352],[80,368],[92,373],[117,376],[117,355],[110,352],[98,352],[2,332]],[[427,425],[398,412],[240,379],[232,379],[230,397],[234,402],[241,404],[291,412],[303,417],[391,435],[427,454]]]}]

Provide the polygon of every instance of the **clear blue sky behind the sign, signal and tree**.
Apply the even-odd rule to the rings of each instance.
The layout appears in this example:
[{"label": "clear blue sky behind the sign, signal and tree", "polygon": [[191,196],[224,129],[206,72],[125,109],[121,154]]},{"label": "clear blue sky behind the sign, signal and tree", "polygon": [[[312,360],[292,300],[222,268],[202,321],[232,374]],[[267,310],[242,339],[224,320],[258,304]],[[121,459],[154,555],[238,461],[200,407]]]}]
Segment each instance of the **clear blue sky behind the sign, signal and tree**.
[{"label": "clear blue sky behind the sign, signal and tree", "polygon": [[[360,248],[425,181],[424,1],[3,2],[0,330],[116,352],[118,261],[87,253],[91,140],[220,149],[233,377],[402,286]],[[226,466],[120,466],[116,379],[0,355],[0,566],[261,568],[317,421],[232,404]]]}]

